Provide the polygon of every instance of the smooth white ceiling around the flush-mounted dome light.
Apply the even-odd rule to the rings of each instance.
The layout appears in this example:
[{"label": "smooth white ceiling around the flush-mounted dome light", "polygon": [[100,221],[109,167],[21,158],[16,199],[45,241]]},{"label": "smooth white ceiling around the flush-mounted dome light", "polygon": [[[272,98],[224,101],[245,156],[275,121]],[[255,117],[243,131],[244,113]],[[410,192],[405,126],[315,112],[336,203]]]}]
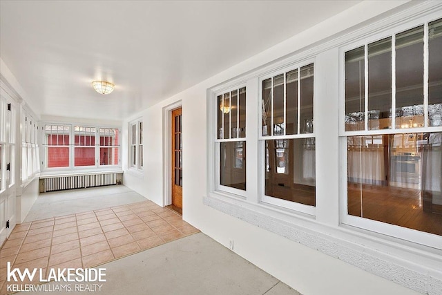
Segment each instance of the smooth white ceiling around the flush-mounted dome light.
[{"label": "smooth white ceiling around the flush-mounted dome light", "polygon": [[358,2],[1,0],[0,57],[37,113],[122,120]]}]

